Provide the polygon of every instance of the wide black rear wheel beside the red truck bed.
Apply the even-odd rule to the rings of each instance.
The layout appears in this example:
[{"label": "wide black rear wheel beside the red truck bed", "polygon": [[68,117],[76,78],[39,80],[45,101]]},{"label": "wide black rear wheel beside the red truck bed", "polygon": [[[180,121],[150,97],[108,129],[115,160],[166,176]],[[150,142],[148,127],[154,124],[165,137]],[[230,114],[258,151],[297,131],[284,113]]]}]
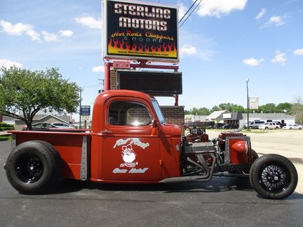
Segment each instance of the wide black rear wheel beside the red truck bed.
[{"label": "wide black rear wheel beside the red truck bed", "polygon": [[6,161],[6,176],[22,194],[39,194],[58,179],[55,151],[46,144],[29,141],[19,144]]}]

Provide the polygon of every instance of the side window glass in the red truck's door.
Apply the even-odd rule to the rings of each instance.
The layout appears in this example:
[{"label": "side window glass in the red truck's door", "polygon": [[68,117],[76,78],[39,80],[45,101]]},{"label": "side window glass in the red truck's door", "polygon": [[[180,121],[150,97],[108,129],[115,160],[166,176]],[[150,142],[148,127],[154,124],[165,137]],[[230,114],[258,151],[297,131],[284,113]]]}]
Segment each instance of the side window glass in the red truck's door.
[{"label": "side window glass in the red truck's door", "polygon": [[152,117],[140,102],[113,101],[108,108],[109,125],[150,125]]}]

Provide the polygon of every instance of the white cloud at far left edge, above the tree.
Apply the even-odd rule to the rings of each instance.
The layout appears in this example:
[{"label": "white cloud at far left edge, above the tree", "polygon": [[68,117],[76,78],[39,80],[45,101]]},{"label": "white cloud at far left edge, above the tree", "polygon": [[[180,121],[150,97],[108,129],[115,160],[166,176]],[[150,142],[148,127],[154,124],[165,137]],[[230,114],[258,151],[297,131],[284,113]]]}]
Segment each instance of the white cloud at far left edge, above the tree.
[{"label": "white cloud at far left edge, above the tree", "polygon": [[8,21],[0,21],[0,26],[9,35],[21,36],[22,34],[26,34],[30,36],[31,39],[34,41],[40,40],[39,34],[36,31],[34,31],[34,26],[32,26],[31,24],[24,24],[24,23],[11,24],[11,22]]}]

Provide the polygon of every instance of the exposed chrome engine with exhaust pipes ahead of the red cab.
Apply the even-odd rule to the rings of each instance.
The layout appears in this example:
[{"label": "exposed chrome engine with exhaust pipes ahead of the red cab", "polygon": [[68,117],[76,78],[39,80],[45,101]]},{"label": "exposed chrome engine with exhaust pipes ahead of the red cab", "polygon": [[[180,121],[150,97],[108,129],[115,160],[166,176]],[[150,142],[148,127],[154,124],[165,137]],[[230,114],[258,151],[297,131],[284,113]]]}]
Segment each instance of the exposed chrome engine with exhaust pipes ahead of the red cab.
[{"label": "exposed chrome engine with exhaust pipes ahead of the red cab", "polygon": [[[183,176],[201,175],[203,178],[208,178],[216,171],[234,171],[230,162],[229,142],[227,145],[226,142],[230,141],[230,138],[241,138],[240,142],[245,142],[245,135],[240,132],[222,132],[219,137],[210,140],[205,129],[194,126],[189,130],[183,139],[181,157]],[[242,156],[248,157],[249,154]],[[236,169],[234,172],[239,171]]]}]

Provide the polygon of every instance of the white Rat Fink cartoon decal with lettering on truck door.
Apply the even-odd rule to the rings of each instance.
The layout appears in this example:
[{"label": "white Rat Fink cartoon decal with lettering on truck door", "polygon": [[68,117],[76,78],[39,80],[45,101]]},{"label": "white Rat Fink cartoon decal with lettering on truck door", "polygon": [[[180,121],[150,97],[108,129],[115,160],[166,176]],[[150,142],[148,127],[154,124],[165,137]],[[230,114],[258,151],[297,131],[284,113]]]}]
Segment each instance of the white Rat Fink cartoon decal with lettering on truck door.
[{"label": "white Rat Fink cartoon decal with lettering on truck door", "polygon": [[120,164],[120,168],[128,167],[132,169],[115,168],[113,169],[113,174],[144,174],[145,171],[148,170],[148,167],[143,169],[135,168],[135,166],[138,165],[138,162],[135,162],[137,154],[135,154],[135,151],[133,150],[133,145],[145,149],[146,147],[149,147],[150,144],[148,142],[140,142],[140,139],[138,138],[118,139],[113,148],[122,146],[121,157],[124,162]]}]

